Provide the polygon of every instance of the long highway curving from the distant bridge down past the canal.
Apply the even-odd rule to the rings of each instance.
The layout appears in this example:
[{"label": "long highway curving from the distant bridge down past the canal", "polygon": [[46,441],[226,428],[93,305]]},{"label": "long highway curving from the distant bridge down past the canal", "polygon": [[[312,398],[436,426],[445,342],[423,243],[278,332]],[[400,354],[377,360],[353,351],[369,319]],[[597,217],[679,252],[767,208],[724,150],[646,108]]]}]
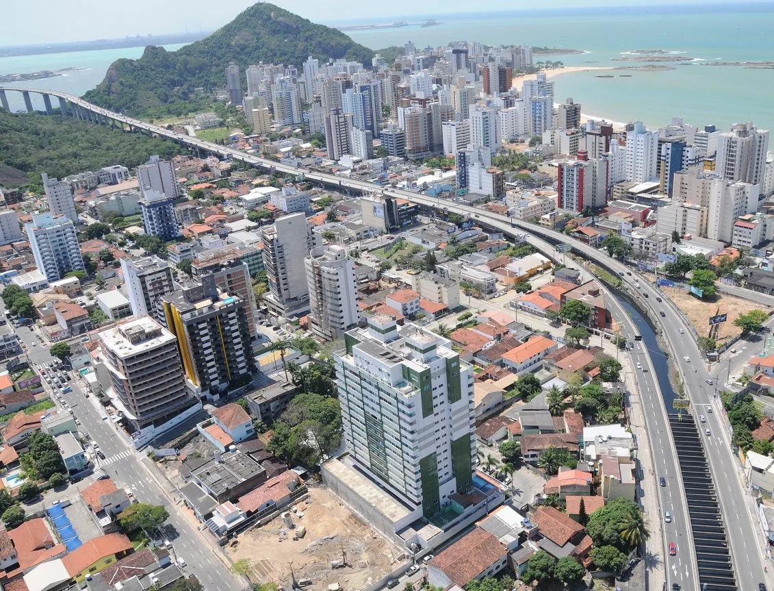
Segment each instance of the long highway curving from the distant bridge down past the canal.
[{"label": "long highway curving from the distant bridge down past the canal", "polygon": [[[97,119],[94,122],[102,122],[107,124],[108,122],[118,122],[125,125],[129,125],[133,129],[144,129],[148,132],[155,133],[159,136],[164,136],[169,139],[173,139],[178,143],[189,146],[192,149],[200,151],[206,151],[208,153],[214,153],[225,158],[231,158],[234,160],[242,160],[245,163],[252,164],[257,167],[264,167],[270,170],[276,170],[287,174],[300,174],[303,173],[308,180],[317,181],[323,184],[332,185],[334,187],[341,187],[341,189],[352,189],[355,191],[383,191],[385,194],[393,197],[404,198],[409,201],[413,201],[417,204],[423,204],[427,207],[443,207],[445,210],[466,215],[474,218],[474,221],[485,223],[489,227],[504,232],[506,235],[514,235],[515,229],[519,228],[523,231],[542,235],[543,237],[555,242],[568,242],[573,248],[587,259],[590,259],[594,263],[604,266],[619,276],[622,276],[627,283],[628,290],[637,292],[639,302],[644,304],[645,308],[649,309],[649,315],[651,318],[656,318],[656,321],[662,321],[661,328],[664,336],[668,342],[671,343],[673,349],[682,352],[685,356],[691,359],[690,362],[684,362],[679,360],[679,366],[681,372],[685,376],[687,397],[694,405],[694,409],[704,407],[712,404],[714,397],[714,387],[705,383],[704,380],[710,378],[710,374],[707,372],[707,368],[700,362],[701,356],[697,349],[696,343],[690,338],[690,332],[687,330],[687,326],[683,325],[683,321],[680,316],[667,304],[658,304],[656,297],[666,297],[660,293],[656,287],[647,283],[642,277],[633,273],[632,276],[628,276],[625,273],[632,271],[627,266],[619,263],[615,259],[611,259],[607,253],[601,253],[597,249],[591,246],[587,246],[582,242],[568,238],[560,232],[542,228],[536,225],[530,225],[526,222],[520,222],[515,220],[509,220],[505,216],[498,215],[484,209],[473,208],[467,205],[453,204],[449,201],[440,201],[437,198],[428,198],[422,194],[417,194],[412,191],[404,191],[394,189],[391,187],[379,187],[378,185],[361,181],[352,180],[345,177],[337,177],[331,174],[322,174],[317,172],[308,171],[302,168],[291,167],[286,164],[276,163],[272,160],[266,160],[258,156],[252,156],[250,154],[242,153],[236,149],[231,149],[226,146],[218,146],[217,144],[209,143],[201,139],[197,139],[189,136],[182,136],[174,133],[170,130],[164,129],[157,125],[152,125],[146,122],[140,122],[136,119],[126,117],[118,113],[109,112],[106,109],[91,105],[80,98],[74,97],[70,94],[60,93],[55,91],[43,91],[34,88],[17,88],[17,87],[0,87],[3,91],[27,91],[37,94],[48,94],[57,96],[70,103],[70,106],[76,105],[77,109],[91,112],[98,117],[92,117],[92,120]],[[553,251],[553,249],[552,249]],[[550,251],[550,252],[552,252]],[[550,253],[549,252],[549,253]],[[639,283],[640,287],[634,286],[634,283]],[[759,301],[760,303],[774,305],[774,297],[766,294],[758,294],[750,290],[743,288],[722,286],[724,291],[731,294],[739,294],[741,297],[748,297],[753,301]],[[645,294],[648,294],[648,298],[644,298]],[[659,312],[663,311],[665,317],[662,319],[659,316]],[[621,316],[621,318],[625,318]],[[680,328],[683,332],[680,332]],[[646,357],[646,353],[642,352],[643,358]],[[648,359],[652,367],[652,360]],[[659,362],[660,363],[660,362]],[[652,374],[652,371],[650,372]],[[643,376],[643,380],[638,379],[638,383],[646,383],[647,377]],[[659,404],[660,412],[655,414],[646,414],[649,421],[649,429],[655,429],[655,435],[663,433],[665,437],[668,437],[670,433],[669,429],[665,428],[665,424],[659,424],[659,420],[656,417],[666,414],[666,410],[663,407],[663,403],[658,400],[657,390],[655,388],[655,382],[652,383],[654,404]],[[646,386],[647,391],[647,386]],[[644,404],[648,402],[643,400]],[[717,407],[719,410],[719,407]],[[694,410],[694,414],[698,414]],[[712,435],[710,437],[704,437],[704,448],[706,451],[707,459],[710,462],[711,471],[714,477],[714,483],[719,493],[719,503],[721,510],[724,514],[724,522],[727,525],[728,539],[731,541],[731,548],[735,560],[735,570],[738,576],[738,586],[740,589],[756,589],[759,582],[764,581],[763,570],[763,558],[762,558],[762,537],[759,535],[757,528],[754,527],[751,515],[749,514],[748,497],[745,497],[745,493],[742,490],[738,471],[737,460],[734,459],[731,452],[730,441],[728,440],[728,434],[721,428],[721,424],[717,419],[717,414],[707,414],[706,427],[711,429]],[[701,425],[704,428],[704,424]],[[666,446],[666,448],[673,449],[672,445]],[[654,453],[659,449],[657,446],[653,446]],[[675,454],[676,455],[676,454]],[[676,477],[675,457],[672,459],[666,458],[666,452],[663,455],[663,464],[659,466],[659,462],[656,462],[658,469],[663,469],[665,472],[674,474]],[[672,489],[673,487],[667,486],[666,488]],[[663,498],[662,495],[662,507],[664,503],[669,502]],[[671,502],[675,502],[672,500]],[[755,517],[753,517],[755,519]],[[673,522],[676,527],[680,527],[678,521]],[[683,524],[684,527],[684,524]],[[679,531],[675,531],[675,534],[679,535]],[[678,560],[683,558],[683,553],[678,551]],[[695,561],[694,561],[695,564]],[[670,569],[671,569],[670,565]],[[674,569],[677,571],[678,569]],[[680,571],[682,568],[680,568]],[[676,576],[676,572],[675,572]],[[690,586],[683,586],[683,589],[690,589]]]}]

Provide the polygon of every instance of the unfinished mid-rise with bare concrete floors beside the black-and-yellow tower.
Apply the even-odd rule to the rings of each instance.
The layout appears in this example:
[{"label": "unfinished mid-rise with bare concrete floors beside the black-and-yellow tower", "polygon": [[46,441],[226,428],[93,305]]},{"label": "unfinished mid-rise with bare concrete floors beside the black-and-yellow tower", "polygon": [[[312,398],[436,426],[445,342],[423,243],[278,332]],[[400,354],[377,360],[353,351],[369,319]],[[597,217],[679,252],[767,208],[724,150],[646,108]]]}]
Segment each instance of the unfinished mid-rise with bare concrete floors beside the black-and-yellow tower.
[{"label": "unfinished mid-rise with bare concrete floors beside the black-and-yellow tower", "polygon": [[108,369],[108,397],[135,430],[163,424],[197,404],[190,397],[177,339],[141,316],[98,335],[99,359]]}]

